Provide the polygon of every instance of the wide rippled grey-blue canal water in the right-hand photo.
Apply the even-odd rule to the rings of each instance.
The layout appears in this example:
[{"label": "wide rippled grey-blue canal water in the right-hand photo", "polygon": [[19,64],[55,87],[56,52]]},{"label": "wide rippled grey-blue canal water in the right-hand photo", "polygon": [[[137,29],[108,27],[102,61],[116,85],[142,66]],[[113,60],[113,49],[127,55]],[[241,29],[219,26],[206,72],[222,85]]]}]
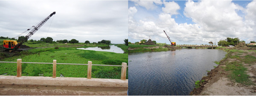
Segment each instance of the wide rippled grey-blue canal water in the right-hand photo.
[{"label": "wide rippled grey-blue canal water in the right-hand photo", "polygon": [[180,49],[131,53],[129,95],[189,95],[195,81],[218,66],[226,52],[218,49]]}]

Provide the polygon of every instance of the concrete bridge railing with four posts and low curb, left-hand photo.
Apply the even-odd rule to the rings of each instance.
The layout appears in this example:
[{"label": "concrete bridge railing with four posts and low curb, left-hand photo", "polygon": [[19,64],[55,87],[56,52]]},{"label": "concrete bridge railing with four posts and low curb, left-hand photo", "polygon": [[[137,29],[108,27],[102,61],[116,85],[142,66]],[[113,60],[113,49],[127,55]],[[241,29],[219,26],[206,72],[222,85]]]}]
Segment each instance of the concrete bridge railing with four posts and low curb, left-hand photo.
[{"label": "concrete bridge railing with four posts and low curb, left-hand photo", "polygon": [[[17,62],[0,61],[0,63],[17,63],[17,76],[4,76],[0,75],[0,84],[17,84],[17,85],[56,85],[56,86],[93,86],[93,87],[125,87],[128,88],[128,80],[126,80],[127,63],[122,63],[121,79],[100,79],[91,78],[92,66],[118,66],[118,65],[97,65],[88,61],[88,64],[74,64],[74,63],[57,63],[57,60],[53,60],[52,63],[40,63],[40,64],[52,64],[52,77],[33,77],[33,76],[21,76],[22,63],[34,63],[35,62],[22,62],[21,59],[17,59]],[[87,65],[87,78],[79,77],[56,77],[56,64],[67,65]]]}]

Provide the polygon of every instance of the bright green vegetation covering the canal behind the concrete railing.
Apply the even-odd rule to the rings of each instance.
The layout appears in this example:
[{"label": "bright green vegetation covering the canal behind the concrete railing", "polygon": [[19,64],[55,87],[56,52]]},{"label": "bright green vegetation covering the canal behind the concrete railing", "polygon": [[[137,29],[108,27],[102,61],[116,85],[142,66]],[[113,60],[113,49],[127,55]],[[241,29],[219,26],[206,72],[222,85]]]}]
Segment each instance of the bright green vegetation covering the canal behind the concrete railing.
[{"label": "bright green vegetation covering the canal behind the concrete railing", "polygon": [[[87,64],[92,61],[92,64],[108,64],[121,65],[122,62],[128,63],[128,54],[120,54],[114,52],[100,52],[91,50],[76,49],[79,47],[97,47],[108,45],[93,45],[84,46],[85,44],[26,44],[29,47],[47,47],[35,48],[23,51],[20,55],[10,58],[4,58],[1,61],[17,62],[17,59],[22,59],[22,62],[41,62],[52,63],[52,60],[57,60],[57,63],[83,63]],[[63,46],[64,45],[64,46]],[[58,46],[58,49],[55,47]],[[122,45],[119,45],[122,46]],[[17,75],[16,63],[1,63],[0,75]],[[84,65],[57,65],[56,76],[64,77],[87,77],[87,66]],[[22,76],[52,76],[52,64],[22,64]],[[111,78],[120,79],[121,67],[113,66],[92,66],[92,78]],[[128,69],[126,73],[128,79]]]}]

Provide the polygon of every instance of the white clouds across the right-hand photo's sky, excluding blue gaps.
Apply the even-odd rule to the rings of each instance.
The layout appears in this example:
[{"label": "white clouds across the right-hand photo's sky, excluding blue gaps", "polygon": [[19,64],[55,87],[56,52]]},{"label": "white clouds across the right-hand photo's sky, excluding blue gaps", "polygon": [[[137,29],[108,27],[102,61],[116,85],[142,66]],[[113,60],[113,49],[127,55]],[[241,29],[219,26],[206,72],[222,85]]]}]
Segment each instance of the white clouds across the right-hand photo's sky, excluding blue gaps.
[{"label": "white clouds across the right-hand photo's sky, excluding blue gaps", "polygon": [[[169,43],[163,30],[177,44],[208,44],[209,41],[217,43],[227,37],[242,40],[256,38],[256,1],[249,3],[246,8],[231,1],[187,1],[183,14],[195,24],[177,24],[177,18],[172,18],[172,15],[181,14],[178,13],[180,6],[173,1],[163,1],[163,4],[165,7],[155,20],[133,19],[136,23],[129,26],[129,40],[148,39],[151,36],[152,40]],[[239,11],[245,15],[238,14]]]}]

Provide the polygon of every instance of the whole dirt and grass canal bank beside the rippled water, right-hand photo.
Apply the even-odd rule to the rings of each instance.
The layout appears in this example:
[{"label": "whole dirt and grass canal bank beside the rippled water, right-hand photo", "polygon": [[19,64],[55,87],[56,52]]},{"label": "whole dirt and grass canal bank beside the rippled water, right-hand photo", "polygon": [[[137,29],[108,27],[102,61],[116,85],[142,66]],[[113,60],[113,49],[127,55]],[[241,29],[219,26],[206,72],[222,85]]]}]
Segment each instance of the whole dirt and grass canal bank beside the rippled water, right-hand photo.
[{"label": "whole dirt and grass canal bank beside the rippled water, right-hand photo", "polygon": [[226,57],[189,95],[256,95],[256,51],[223,49]]}]

